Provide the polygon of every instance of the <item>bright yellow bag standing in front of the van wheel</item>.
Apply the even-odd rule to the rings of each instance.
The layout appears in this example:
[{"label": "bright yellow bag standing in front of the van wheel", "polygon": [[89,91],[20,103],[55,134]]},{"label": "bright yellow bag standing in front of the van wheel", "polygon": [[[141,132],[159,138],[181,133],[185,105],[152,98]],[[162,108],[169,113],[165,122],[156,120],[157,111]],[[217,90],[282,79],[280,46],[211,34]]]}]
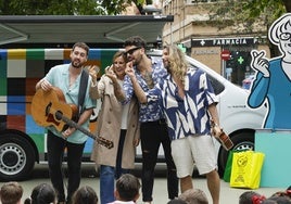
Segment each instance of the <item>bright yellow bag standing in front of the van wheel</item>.
[{"label": "bright yellow bag standing in front of the van wheel", "polygon": [[257,189],[265,154],[262,152],[235,152],[230,175],[230,187]]}]

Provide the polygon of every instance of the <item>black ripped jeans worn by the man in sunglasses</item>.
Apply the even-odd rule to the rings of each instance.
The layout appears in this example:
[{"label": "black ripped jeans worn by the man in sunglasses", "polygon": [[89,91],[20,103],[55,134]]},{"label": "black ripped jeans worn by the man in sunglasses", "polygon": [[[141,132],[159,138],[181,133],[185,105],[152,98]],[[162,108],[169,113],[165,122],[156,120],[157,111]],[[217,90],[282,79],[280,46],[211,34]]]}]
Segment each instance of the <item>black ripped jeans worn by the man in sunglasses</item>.
[{"label": "black ripped jeans worn by the man in sunglasses", "polygon": [[159,148],[161,144],[164,149],[167,165],[168,199],[175,199],[178,196],[178,178],[170,153],[170,140],[166,123],[164,120],[141,123],[140,139],[142,151],[142,201],[151,202],[153,200],[154,167],[156,165]]}]

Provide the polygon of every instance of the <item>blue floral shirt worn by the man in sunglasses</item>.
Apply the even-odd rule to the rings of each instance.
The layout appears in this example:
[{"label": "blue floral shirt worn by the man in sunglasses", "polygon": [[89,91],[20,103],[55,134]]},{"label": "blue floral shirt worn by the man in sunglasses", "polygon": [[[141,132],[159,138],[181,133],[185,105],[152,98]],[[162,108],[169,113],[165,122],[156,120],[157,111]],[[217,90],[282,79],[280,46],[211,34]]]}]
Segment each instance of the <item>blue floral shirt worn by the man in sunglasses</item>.
[{"label": "blue floral shirt worn by the man in sunglasses", "polygon": [[[167,71],[164,68],[163,62],[161,60],[156,60],[154,58],[152,58],[151,60],[152,60],[152,69],[153,69],[152,79],[153,79],[153,84],[156,85],[167,76]],[[141,86],[142,90],[144,92],[149,91],[150,88],[148,87],[146,80],[143,79],[140,72],[137,69],[137,67],[135,67],[135,72],[136,72],[137,80],[139,85]],[[124,78],[123,89],[126,94],[126,99],[123,103],[128,103],[130,99],[132,98],[132,95],[135,94],[135,90],[132,88],[132,82],[127,75]],[[161,118],[164,118],[164,115],[163,115],[163,111],[160,106],[159,101],[151,101],[147,104],[140,104],[139,120],[141,123],[154,122]]]}]

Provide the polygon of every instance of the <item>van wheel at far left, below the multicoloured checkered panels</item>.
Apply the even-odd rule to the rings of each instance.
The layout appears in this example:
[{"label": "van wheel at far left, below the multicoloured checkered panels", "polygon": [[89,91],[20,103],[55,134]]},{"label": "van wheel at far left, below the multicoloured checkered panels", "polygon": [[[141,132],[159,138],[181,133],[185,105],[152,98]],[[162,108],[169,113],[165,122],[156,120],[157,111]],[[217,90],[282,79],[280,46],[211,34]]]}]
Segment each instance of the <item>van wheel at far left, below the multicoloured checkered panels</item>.
[{"label": "van wheel at far left, below the multicoloured checkered panels", "polygon": [[3,181],[24,180],[35,166],[35,152],[30,143],[14,132],[0,137],[0,179]]}]

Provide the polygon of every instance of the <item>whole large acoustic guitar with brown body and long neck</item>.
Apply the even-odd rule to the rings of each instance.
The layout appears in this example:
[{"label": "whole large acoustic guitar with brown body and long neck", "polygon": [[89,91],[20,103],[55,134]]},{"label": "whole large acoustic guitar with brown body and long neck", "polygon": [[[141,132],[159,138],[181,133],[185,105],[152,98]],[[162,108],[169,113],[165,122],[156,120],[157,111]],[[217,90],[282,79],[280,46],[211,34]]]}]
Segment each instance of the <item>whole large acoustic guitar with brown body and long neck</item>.
[{"label": "whole large acoustic guitar with brown body and long neck", "polygon": [[78,113],[78,107],[67,104],[61,89],[53,87],[50,91],[38,89],[31,101],[31,115],[39,126],[53,126],[58,131],[74,127],[92,138],[96,142],[107,149],[113,148],[113,142],[102,137],[97,137],[73,120]]}]

